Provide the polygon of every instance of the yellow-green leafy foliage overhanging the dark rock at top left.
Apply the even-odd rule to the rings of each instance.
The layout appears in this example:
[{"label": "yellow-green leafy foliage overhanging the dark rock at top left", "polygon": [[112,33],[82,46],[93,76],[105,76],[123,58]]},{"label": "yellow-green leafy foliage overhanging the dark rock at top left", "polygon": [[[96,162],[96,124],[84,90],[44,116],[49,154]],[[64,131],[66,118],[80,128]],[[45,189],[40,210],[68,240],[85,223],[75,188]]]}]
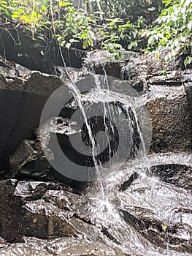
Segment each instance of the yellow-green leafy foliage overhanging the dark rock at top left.
[{"label": "yellow-green leafy foliage overhanging the dark rock at top left", "polygon": [[108,19],[100,25],[96,12],[88,14],[83,9],[77,10],[73,1],[1,0],[0,13],[31,31],[34,39],[39,35],[43,38],[47,31],[52,31],[66,48],[78,42],[83,49],[100,47],[115,51],[121,48],[115,43],[117,36],[113,32],[121,20]]}]

